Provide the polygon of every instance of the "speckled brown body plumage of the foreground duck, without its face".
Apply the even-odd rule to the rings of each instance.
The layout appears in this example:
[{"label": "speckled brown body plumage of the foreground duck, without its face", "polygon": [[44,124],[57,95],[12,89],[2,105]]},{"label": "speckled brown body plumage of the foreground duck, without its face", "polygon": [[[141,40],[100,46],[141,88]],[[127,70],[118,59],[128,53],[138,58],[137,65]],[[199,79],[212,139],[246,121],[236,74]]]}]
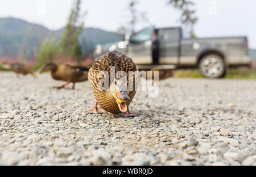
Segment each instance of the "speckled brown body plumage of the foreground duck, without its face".
[{"label": "speckled brown body plumage of the foreground duck, without its face", "polygon": [[[109,74],[109,86],[110,86],[110,66],[115,67],[115,73],[117,73],[117,71],[126,72],[127,81],[128,81],[127,85],[129,85],[129,82],[132,82],[132,81],[133,83],[135,83],[134,81],[135,76],[133,75],[129,77],[129,71],[137,71],[137,68],[133,60],[131,60],[131,58],[127,57],[125,54],[121,52],[113,51],[113,52],[108,52],[100,56],[99,58],[97,58],[94,65],[89,70],[88,79],[98,104],[105,111],[108,111],[111,113],[121,113],[121,111],[118,108],[118,104],[115,102],[114,97],[110,95],[110,92],[104,91],[104,90],[103,91],[98,90],[98,82],[102,79],[98,77],[98,73],[100,71],[106,71]],[[136,94],[135,84],[133,85],[133,87],[134,87],[133,91],[127,92],[131,100],[134,98]],[[131,100],[127,102],[127,107],[129,106]]]}]

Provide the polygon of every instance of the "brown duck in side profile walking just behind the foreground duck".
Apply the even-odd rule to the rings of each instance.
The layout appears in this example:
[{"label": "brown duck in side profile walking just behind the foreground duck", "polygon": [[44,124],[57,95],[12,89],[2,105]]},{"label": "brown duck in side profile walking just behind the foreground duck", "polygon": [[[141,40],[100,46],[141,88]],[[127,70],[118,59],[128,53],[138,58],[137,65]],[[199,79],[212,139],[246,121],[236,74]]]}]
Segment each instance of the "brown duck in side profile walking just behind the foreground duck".
[{"label": "brown duck in side profile walking just behind the foreground duck", "polygon": [[55,80],[67,81],[61,86],[54,88],[60,89],[67,86],[70,82],[73,82],[72,89],[75,89],[76,82],[82,82],[88,80],[88,68],[85,66],[75,64],[60,64],[46,63],[39,69],[39,74],[45,71],[51,71],[51,76]]}]

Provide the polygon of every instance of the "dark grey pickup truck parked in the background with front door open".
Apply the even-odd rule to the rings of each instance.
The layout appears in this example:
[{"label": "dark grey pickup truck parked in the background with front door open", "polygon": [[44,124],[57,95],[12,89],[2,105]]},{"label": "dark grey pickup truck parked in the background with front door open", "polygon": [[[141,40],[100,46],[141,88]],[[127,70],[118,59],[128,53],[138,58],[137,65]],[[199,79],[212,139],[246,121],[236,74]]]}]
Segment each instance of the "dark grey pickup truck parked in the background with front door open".
[{"label": "dark grey pickup truck parked in the background with front door open", "polygon": [[148,27],[124,41],[98,44],[94,58],[112,50],[127,54],[138,69],[199,68],[208,78],[223,77],[229,67],[251,63],[247,37],[190,38],[181,27]]}]

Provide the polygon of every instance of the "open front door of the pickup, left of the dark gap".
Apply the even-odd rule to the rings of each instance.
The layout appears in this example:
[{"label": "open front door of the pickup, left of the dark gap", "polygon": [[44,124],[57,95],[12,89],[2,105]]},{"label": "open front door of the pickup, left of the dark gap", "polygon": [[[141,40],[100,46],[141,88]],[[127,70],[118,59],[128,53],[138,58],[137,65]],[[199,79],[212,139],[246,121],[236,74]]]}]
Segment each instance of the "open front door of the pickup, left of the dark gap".
[{"label": "open front door of the pickup, left of the dark gap", "polygon": [[127,56],[133,58],[135,64],[152,64],[151,36],[154,27],[142,29],[131,37],[127,46]]}]

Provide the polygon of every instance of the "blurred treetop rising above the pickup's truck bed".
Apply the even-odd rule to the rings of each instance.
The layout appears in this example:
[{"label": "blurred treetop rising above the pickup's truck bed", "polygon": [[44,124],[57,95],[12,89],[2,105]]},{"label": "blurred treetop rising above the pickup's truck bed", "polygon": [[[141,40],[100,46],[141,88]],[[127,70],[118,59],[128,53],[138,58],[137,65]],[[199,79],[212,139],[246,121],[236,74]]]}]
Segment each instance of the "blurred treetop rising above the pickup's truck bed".
[{"label": "blurred treetop rising above the pickup's truck bed", "polygon": [[191,10],[191,6],[195,5],[192,1],[189,0],[170,0],[169,3],[174,6],[176,9],[182,11],[181,13],[181,23],[185,24],[190,28],[191,37],[195,37],[194,26],[197,22],[195,15],[195,10]]}]

